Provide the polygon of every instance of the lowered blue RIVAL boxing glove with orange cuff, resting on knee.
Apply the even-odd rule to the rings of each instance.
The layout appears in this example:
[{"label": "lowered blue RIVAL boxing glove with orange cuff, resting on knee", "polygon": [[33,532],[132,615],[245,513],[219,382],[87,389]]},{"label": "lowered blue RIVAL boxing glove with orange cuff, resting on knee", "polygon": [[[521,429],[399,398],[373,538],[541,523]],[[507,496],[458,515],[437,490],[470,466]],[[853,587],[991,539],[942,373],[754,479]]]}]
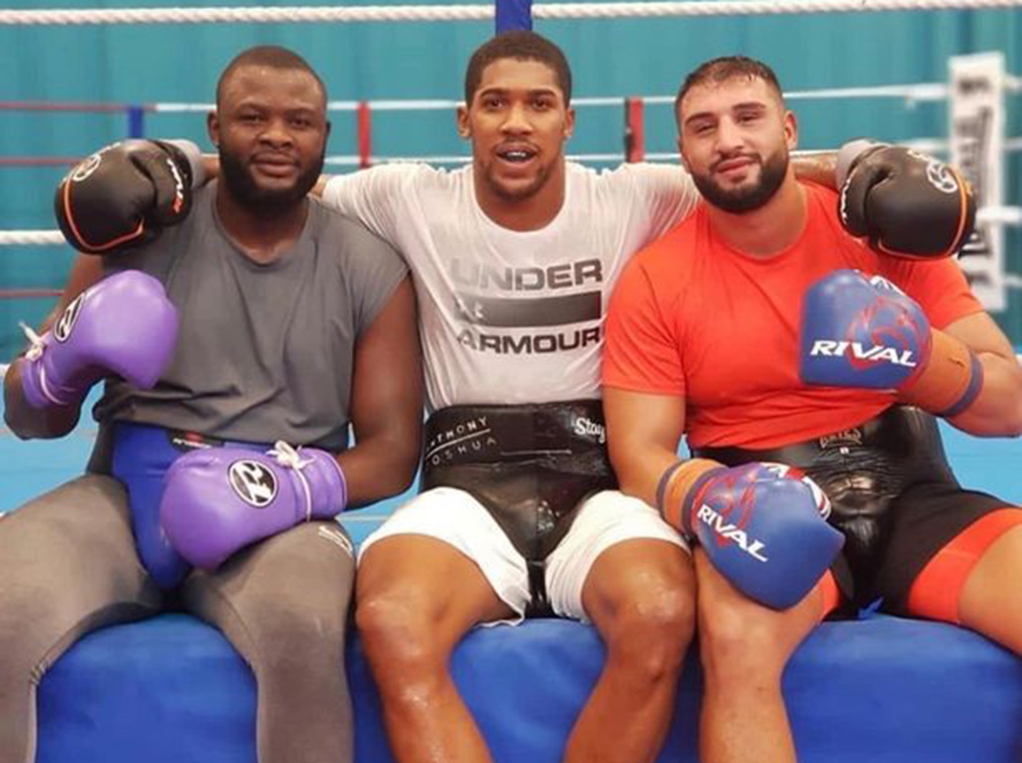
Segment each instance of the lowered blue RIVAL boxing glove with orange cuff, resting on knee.
[{"label": "lowered blue RIVAL boxing glove with orange cuff, resting on knee", "polygon": [[664,473],[657,503],[732,585],[777,610],[802,601],[844,545],[823,490],[781,464],[682,462]]}]

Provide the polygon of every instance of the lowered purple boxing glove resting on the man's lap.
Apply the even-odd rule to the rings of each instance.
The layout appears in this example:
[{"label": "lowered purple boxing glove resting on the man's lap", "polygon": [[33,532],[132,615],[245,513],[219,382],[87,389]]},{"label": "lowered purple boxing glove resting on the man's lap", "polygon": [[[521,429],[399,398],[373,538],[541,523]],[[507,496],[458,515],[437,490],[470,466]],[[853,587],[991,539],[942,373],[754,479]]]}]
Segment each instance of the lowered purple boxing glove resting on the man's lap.
[{"label": "lowered purple boxing glove resting on the man's lap", "polygon": [[285,442],[266,454],[212,447],[171,465],[159,521],[178,554],[213,570],[249,543],[335,517],[346,504],[344,474],[325,450]]}]

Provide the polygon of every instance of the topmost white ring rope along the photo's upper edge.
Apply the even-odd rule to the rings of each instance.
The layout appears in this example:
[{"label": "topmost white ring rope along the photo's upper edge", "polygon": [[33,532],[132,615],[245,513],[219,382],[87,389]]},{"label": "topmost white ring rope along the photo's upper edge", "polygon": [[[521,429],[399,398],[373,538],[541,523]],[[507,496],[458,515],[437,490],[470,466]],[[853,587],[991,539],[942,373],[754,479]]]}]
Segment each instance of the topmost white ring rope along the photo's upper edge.
[{"label": "topmost white ring rope along the photo's upper edge", "polygon": [[[882,10],[1011,8],[1022,0],[705,0],[688,2],[537,3],[533,18],[862,13]],[[2,10],[0,26],[99,23],[282,23],[355,21],[487,21],[493,5],[365,5],[360,7],[88,8]]]}]

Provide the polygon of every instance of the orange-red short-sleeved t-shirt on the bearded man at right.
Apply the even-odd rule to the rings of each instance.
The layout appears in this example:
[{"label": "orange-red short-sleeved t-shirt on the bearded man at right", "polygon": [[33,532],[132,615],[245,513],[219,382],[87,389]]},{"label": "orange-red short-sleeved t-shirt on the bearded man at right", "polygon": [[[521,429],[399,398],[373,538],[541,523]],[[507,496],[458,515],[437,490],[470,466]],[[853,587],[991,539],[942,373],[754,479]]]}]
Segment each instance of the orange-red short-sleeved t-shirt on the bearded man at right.
[{"label": "orange-red short-sleeved t-shirt on the bearded man at right", "polygon": [[686,399],[694,447],[777,447],[862,424],[893,402],[886,390],[812,387],[798,378],[802,294],[841,268],[881,275],[935,328],[983,307],[951,258],[877,254],[837,219],[837,193],[803,184],[805,230],[752,257],[711,230],[705,205],[640,251],[607,316],[603,383]]}]

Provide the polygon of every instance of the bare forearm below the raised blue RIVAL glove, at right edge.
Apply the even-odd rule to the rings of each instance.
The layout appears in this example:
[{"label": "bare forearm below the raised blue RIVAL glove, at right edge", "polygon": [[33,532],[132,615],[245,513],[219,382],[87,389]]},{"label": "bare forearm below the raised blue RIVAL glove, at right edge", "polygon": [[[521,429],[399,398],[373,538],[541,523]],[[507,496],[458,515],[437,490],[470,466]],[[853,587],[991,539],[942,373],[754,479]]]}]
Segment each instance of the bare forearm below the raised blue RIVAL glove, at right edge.
[{"label": "bare forearm below the raised blue RIVAL glove, at right edge", "polygon": [[1022,435],[1022,367],[994,352],[978,352],[983,386],[976,400],[948,419],[956,428],[981,437]]}]

